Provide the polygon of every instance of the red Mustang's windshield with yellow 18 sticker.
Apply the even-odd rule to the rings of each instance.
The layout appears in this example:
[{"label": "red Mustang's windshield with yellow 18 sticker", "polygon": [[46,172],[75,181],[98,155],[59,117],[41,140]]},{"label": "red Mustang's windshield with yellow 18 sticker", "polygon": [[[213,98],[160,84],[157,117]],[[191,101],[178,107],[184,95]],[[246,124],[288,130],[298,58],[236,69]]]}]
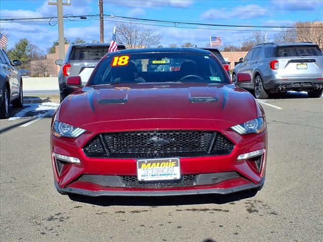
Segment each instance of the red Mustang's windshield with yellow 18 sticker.
[{"label": "red Mustang's windshield with yellow 18 sticker", "polygon": [[156,82],[230,83],[222,65],[208,54],[135,53],[103,59],[88,86]]}]

